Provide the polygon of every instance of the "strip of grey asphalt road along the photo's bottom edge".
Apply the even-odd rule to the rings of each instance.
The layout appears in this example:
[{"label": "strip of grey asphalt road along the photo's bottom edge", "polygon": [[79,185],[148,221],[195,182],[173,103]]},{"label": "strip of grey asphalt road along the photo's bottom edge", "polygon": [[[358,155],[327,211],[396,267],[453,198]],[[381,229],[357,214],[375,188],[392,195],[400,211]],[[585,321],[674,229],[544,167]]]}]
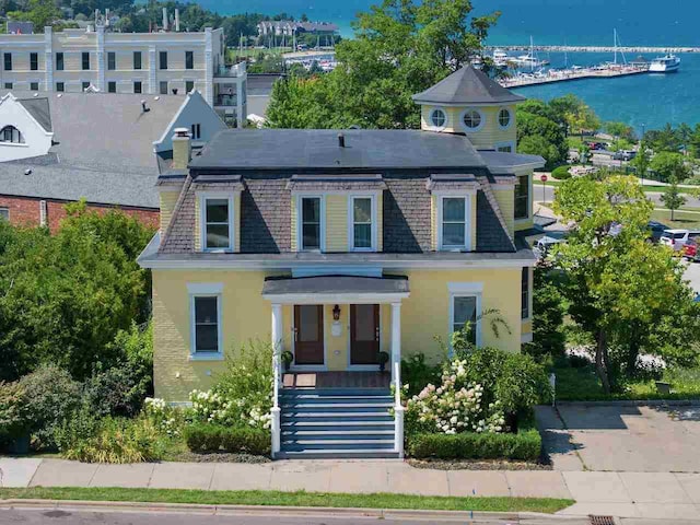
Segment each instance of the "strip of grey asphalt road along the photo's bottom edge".
[{"label": "strip of grey asphalt road along the photo's bottom edge", "polygon": [[13,509],[0,510],[1,525],[355,525],[363,523],[382,525],[425,525],[427,523],[459,523],[462,525],[587,525],[588,520],[528,518],[510,521],[440,520],[434,516],[417,520],[393,520],[366,516],[279,516],[279,515],[212,515],[196,513],[161,512],[91,512],[71,510]]}]

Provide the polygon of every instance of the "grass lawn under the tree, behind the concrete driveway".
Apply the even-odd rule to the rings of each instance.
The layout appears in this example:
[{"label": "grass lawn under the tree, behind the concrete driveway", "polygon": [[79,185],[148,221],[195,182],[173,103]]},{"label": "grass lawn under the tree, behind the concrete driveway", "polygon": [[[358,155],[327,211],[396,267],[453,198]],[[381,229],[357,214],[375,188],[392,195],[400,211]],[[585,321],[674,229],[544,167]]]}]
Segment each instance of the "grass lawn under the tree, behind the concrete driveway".
[{"label": "grass lawn under the tree, behind the concrete driveway", "polygon": [[594,368],[553,366],[557,375],[557,400],[597,401],[610,399],[700,399],[700,369],[669,369],[663,381],[670,394],[660,394],[653,381],[635,381],[621,394],[605,394]]}]

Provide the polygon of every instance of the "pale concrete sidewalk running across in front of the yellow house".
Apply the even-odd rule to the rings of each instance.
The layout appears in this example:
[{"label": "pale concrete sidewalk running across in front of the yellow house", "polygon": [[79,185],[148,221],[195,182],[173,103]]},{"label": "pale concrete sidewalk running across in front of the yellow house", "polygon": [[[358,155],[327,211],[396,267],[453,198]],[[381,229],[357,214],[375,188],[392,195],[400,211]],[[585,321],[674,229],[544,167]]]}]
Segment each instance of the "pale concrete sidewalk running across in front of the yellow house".
[{"label": "pale concrete sidewalk running across in front of the yellow house", "polygon": [[563,515],[691,520],[700,474],[552,470],[433,470],[400,460],[305,460],[262,465],[97,465],[0,457],[2,487],[127,487],[202,490],[394,492],[421,495],[570,498]]}]

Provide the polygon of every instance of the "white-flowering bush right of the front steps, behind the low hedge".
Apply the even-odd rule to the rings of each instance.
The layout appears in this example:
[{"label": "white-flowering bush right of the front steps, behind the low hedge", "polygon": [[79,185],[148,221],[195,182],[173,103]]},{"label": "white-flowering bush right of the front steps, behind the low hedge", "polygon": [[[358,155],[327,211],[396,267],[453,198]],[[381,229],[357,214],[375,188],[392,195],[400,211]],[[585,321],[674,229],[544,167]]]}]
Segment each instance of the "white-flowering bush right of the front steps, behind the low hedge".
[{"label": "white-flowering bush right of the front steps, behind the low hedge", "polygon": [[445,434],[504,430],[500,402],[483,406],[483,388],[465,382],[465,361],[453,360],[446,365],[440,386],[430,384],[408,400],[409,424]]}]

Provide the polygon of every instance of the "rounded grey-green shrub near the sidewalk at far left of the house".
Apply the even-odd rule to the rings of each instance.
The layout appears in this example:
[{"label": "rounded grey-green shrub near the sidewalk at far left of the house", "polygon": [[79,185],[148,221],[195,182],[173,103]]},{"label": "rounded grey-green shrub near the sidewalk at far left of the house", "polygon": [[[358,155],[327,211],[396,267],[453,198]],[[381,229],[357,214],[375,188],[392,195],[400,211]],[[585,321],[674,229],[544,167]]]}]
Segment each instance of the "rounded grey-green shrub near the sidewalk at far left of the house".
[{"label": "rounded grey-green shrub near the sidewalk at far left of the house", "polygon": [[39,447],[55,447],[54,434],[57,427],[80,406],[82,388],[70,374],[56,365],[48,364],[20,380],[27,404],[30,430]]}]

